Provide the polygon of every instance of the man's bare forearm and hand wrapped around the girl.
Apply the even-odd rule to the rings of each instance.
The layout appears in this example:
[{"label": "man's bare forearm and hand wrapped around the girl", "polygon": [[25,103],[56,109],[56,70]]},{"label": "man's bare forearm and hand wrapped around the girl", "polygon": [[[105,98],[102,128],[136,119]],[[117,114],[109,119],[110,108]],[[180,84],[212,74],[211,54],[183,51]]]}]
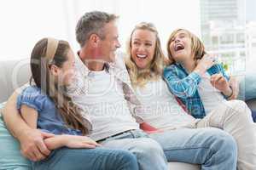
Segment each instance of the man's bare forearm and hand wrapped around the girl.
[{"label": "man's bare forearm and hand wrapped around the girl", "polygon": [[32,161],[42,160],[50,153],[44,144],[44,139],[53,135],[32,129],[24,122],[16,109],[17,97],[18,93],[15,92],[8,99],[3,109],[3,120],[10,133],[20,141],[22,155]]}]

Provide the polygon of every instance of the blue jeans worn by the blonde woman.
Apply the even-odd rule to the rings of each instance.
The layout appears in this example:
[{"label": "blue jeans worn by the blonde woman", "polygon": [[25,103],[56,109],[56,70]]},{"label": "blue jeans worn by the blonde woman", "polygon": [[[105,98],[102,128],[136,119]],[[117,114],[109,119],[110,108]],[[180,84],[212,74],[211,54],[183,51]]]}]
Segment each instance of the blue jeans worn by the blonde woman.
[{"label": "blue jeans worn by the blonde woman", "polygon": [[236,141],[213,128],[182,128],[149,135],[163,147],[167,161],[201,164],[202,170],[236,170]]}]

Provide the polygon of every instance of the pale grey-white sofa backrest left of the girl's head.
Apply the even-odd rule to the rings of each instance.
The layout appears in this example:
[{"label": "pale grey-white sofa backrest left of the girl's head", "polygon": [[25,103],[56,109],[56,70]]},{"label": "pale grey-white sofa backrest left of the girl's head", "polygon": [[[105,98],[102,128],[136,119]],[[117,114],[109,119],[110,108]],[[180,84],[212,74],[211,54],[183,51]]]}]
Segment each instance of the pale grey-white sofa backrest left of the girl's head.
[{"label": "pale grey-white sofa backrest left of the girl's head", "polygon": [[0,61],[0,102],[7,100],[16,88],[31,77],[30,59],[7,59]]}]

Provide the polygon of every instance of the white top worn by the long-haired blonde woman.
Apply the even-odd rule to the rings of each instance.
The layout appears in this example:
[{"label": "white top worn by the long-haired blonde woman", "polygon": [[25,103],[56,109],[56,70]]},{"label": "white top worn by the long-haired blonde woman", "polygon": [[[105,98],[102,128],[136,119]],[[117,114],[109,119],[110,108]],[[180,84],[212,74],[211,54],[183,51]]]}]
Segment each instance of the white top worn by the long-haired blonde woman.
[{"label": "white top worn by the long-haired blonde woman", "polygon": [[136,89],[137,98],[143,104],[140,116],[145,122],[160,129],[188,127],[195,118],[183,111],[177,100],[169,92],[166,82],[148,82],[145,87]]}]

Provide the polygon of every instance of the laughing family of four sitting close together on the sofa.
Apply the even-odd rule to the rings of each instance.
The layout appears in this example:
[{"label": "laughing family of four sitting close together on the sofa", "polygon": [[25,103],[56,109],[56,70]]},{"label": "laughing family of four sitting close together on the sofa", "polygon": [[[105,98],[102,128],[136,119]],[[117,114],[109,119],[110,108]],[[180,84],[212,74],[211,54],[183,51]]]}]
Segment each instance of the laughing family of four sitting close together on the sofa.
[{"label": "laughing family of four sitting close together on the sofa", "polygon": [[32,167],[164,170],[182,161],[202,170],[256,169],[251,111],[200,39],[173,31],[167,59],[158,31],[143,22],[121,56],[117,19],[85,13],[77,54],[55,38],[32,49],[30,85],[3,111]]}]

